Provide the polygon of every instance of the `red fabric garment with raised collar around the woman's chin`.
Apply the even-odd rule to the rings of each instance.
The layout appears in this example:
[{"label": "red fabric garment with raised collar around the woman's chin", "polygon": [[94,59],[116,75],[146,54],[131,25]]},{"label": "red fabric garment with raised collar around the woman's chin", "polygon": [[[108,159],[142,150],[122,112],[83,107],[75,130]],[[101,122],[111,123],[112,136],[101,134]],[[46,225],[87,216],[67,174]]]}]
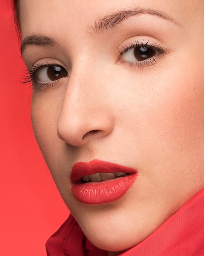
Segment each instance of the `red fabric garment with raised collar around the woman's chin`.
[{"label": "red fabric garment with raised collar around the woman's chin", "polygon": [[[70,215],[46,243],[48,256],[107,256],[92,245]],[[204,256],[204,189],[143,242],[121,256]]]}]

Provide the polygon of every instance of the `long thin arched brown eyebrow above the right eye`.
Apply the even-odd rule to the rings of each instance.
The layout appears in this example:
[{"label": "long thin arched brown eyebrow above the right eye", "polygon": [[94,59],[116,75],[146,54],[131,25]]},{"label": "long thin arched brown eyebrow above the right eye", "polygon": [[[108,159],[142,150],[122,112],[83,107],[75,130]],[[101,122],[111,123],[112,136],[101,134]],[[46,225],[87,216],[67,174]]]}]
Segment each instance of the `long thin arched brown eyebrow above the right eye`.
[{"label": "long thin arched brown eyebrow above the right eye", "polygon": [[160,18],[169,20],[169,21],[173,22],[174,24],[182,27],[180,22],[178,22],[177,20],[175,20],[175,18],[171,17],[169,14],[167,14],[163,11],[157,11],[157,10],[149,9],[149,8],[136,7],[136,8],[130,9],[130,10],[116,11],[114,13],[107,14],[103,18],[97,19],[94,23],[94,26],[90,26],[90,29],[94,32],[94,34],[99,34],[100,32],[113,29],[114,27],[119,25],[121,22],[123,22],[127,18],[130,18],[132,16],[138,16],[141,14],[150,14],[153,16],[158,16]]}]

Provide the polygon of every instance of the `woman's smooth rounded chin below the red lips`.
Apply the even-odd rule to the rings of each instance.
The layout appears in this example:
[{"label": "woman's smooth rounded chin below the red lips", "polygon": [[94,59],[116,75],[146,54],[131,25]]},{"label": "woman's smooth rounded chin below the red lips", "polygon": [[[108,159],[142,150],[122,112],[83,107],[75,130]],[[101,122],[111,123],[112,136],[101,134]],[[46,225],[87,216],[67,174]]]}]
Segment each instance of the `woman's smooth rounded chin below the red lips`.
[{"label": "woman's smooth rounded chin below the red lips", "polygon": [[145,225],[142,229],[144,232],[140,231],[140,225],[134,225],[134,229],[131,229],[132,223],[125,220],[124,216],[118,218],[117,214],[115,217],[108,214],[98,215],[97,218],[83,217],[77,222],[85,236],[93,245],[108,252],[123,252],[134,247],[154,231],[148,230]]}]

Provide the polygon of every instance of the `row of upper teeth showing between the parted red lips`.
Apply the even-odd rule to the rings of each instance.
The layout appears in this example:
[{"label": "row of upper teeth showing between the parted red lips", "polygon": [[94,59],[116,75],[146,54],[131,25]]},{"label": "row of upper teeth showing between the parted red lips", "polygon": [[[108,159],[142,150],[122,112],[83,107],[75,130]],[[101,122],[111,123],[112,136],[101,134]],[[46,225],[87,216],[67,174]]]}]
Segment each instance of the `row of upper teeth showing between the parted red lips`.
[{"label": "row of upper teeth showing between the parted red lips", "polygon": [[121,177],[126,175],[126,173],[94,173],[92,175],[86,175],[82,177],[82,180],[84,182],[100,182],[100,181],[104,181],[104,180],[113,180],[115,177]]}]

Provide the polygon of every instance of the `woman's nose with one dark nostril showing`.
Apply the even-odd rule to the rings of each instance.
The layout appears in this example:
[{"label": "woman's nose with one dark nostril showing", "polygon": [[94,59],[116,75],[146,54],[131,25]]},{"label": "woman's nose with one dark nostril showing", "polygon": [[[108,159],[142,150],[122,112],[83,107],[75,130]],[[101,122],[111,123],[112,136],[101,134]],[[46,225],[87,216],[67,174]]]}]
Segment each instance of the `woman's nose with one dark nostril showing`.
[{"label": "woman's nose with one dark nostril showing", "polygon": [[104,87],[97,85],[96,80],[82,75],[69,78],[57,133],[61,140],[72,146],[103,139],[113,130],[114,120],[107,106]]}]

